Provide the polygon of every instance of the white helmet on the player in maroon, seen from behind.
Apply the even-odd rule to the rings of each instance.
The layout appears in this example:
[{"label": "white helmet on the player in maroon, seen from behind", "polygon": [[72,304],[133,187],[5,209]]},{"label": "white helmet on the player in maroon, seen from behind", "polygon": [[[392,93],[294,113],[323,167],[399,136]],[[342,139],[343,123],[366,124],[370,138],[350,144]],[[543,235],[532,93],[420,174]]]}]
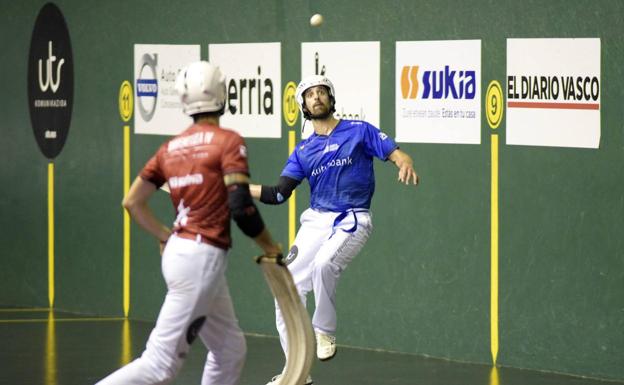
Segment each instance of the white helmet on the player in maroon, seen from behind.
[{"label": "white helmet on the player in maroon, seen from behind", "polygon": [[185,114],[223,113],[225,110],[225,76],[219,67],[207,61],[194,62],[183,68],[175,88]]}]

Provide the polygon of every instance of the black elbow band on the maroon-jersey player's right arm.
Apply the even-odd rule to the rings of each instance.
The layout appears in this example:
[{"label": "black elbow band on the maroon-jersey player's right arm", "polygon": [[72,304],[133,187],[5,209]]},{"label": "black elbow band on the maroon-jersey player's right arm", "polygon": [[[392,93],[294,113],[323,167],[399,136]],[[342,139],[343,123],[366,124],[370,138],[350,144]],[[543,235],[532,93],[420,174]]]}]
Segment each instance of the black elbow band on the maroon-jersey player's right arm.
[{"label": "black elbow band on the maroon-jersey player's right arm", "polygon": [[248,237],[257,237],[264,230],[264,222],[251,199],[247,183],[228,186],[228,205],[238,228]]}]

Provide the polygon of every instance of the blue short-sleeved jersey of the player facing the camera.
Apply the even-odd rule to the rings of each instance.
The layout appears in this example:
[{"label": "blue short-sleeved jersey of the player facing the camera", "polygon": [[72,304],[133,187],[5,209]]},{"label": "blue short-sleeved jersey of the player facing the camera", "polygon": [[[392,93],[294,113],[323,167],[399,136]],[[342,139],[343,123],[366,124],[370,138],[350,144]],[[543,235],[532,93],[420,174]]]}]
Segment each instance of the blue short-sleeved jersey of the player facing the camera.
[{"label": "blue short-sleeved jersey of the player facing the camera", "polygon": [[298,181],[308,178],[313,209],[368,209],[375,192],[373,157],[385,161],[397,148],[377,127],[341,120],[329,135],[314,133],[299,143],[282,176]]}]

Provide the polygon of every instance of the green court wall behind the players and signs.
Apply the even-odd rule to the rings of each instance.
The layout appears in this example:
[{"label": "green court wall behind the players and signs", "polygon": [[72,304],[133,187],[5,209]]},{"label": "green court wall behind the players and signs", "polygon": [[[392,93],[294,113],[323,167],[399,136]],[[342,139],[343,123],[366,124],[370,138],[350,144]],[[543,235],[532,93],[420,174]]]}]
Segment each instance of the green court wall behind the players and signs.
[{"label": "green court wall behind the players and signs", "polygon": [[[27,104],[27,62],[43,1],[0,2],[0,305],[48,306],[47,168]],[[283,88],[300,77],[302,42],[379,41],[380,126],[395,133],[395,42],[480,39],[482,100],[505,84],[506,39],[601,39],[601,139],[595,150],[505,145],[482,118],[481,144],[401,143],[421,177],[396,182],[377,162],[375,230],[341,278],[339,343],[451,360],[492,362],[490,188],[500,137],[497,364],[624,380],[624,2],[583,1],[57,1],[74,55],[74,107],[55,170],[54,307],[122,311],[123,122],[118,92],[133,79],[134,44],[280,42]],[[308,19],[322,13],[325,24]],[[340,103],[340,95],[337,95]],[[281,101],[276,101],[281,106]],[[484,105],[482,101],[482,105]],[[132,123],[132,121],[130,121]],[[252,178],[273,183],[288,154],[280,139],[247,139]],[[299,138],[299,134],[297,134]],[[166,138],[131,135],[133,177]],[[301,213],[307,186],[297,194]],[[166,223],[174,211],[158,193]],[[286,205],[260,206],[287,244]],[[273,301],[237,229],[228,279],[242,327],[275,335]],[[154,320],[165,286],[157,244],[131,231],[130,317]],[[277,343],[277,342],[276,342]]]}]

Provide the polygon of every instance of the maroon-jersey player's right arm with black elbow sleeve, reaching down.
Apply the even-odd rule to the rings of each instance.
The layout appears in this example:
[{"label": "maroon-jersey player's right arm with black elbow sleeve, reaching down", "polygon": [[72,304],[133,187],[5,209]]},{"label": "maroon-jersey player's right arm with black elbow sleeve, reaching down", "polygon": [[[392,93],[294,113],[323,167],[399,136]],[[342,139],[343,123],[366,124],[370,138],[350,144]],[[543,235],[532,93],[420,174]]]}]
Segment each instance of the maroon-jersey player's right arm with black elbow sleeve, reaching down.
[{"label": "maroon-jersey player's right arm with black elbow sleeve, reaching down", "polygon": [[232,218],[241,231],[252,238],[265,254],[280,254],[281,246],[271,237],[253,203],[249,177],[242,173],[232,173],[224,175],[223,181],[228,189]]}]

